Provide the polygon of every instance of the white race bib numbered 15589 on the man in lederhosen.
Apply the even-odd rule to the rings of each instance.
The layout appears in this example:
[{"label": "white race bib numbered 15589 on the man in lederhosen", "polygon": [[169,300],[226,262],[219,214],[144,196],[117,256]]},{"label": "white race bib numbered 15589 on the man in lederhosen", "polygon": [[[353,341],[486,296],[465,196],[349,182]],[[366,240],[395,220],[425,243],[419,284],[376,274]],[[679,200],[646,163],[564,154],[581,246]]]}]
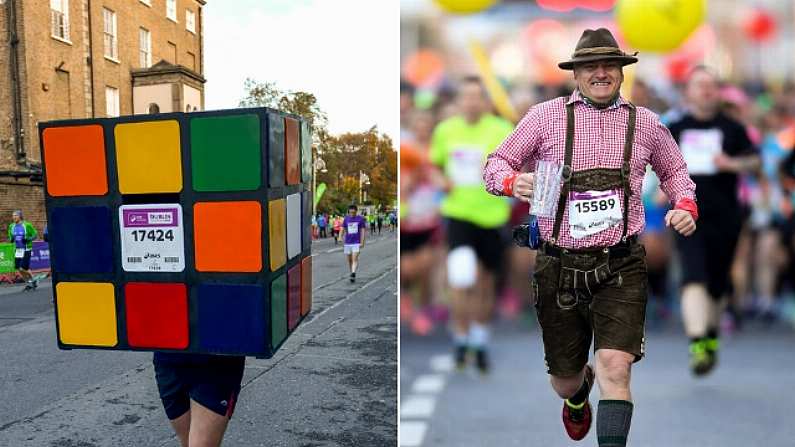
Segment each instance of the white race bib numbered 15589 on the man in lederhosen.
[{"label": "white race bib numbered 15589 on the man in lederhosen", "polygon": [[569,231],[574,239],[604,231],[623,219],[617,190],[569,194]]}]

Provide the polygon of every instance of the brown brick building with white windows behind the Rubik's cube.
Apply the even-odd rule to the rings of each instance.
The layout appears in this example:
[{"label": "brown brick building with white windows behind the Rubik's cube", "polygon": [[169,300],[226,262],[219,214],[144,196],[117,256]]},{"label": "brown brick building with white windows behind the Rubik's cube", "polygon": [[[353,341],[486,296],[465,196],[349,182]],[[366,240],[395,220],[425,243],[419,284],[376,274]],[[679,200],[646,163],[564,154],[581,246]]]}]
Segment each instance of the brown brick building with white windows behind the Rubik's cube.
[{"label": "brown brick building with white windows behind the Rubik's cube", "polygon": [[0,228],[44,227],[40,121],[204,109],[204,5],[0,0]]}]

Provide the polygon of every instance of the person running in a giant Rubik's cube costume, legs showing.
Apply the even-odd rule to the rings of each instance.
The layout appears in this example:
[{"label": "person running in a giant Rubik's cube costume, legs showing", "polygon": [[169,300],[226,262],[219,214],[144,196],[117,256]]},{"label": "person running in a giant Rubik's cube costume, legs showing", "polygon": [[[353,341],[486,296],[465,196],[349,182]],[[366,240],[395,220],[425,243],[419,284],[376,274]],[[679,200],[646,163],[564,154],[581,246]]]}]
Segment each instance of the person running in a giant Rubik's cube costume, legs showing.
[{"label": "person running in a giant Rubik's cube costume, legs showing", "polygon": [[[58,346],[154,351],[183,445],[311,309],[311,135],[239,109],[42,123]],[[204,444],[202,444],[204,445]]]}]

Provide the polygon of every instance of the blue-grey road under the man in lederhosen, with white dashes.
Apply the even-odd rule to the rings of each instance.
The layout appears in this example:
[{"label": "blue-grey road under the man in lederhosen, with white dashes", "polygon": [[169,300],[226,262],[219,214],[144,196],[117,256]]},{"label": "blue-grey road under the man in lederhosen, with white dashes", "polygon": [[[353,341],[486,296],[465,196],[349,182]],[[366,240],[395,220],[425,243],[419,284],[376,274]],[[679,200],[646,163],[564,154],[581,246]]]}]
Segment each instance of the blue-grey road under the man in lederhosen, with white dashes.
[{"label": "blue-grey road under the man in lederhosen, with white dashes", "polygon": [[[549,386],[539,332],[497,325],[493,372],[452,370],[443,330],[401,331],[400,445],[433,447],[596,446],[595,424],[571,441],[561,400]],[[703,379],[687,370],[678,327],[647,331],[647,356],[632,371],[633,447],[791,447],[795,389],[792,329],[748,329],[722,342],[720,364]],[[596,387],[591,401],[599,399]]]}]

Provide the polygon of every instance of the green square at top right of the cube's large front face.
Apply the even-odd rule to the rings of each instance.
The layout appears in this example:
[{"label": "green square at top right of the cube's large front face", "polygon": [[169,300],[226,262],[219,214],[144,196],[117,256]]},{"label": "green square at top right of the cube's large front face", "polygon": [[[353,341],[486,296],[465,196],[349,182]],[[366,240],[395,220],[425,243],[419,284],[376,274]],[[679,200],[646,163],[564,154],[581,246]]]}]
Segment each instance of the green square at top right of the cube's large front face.
[{"label": "green square at top right of the cube's large front face", "polygon": [[252,191],[260,187],[257,115],[192,118],[190,137],[194,191]]}]

